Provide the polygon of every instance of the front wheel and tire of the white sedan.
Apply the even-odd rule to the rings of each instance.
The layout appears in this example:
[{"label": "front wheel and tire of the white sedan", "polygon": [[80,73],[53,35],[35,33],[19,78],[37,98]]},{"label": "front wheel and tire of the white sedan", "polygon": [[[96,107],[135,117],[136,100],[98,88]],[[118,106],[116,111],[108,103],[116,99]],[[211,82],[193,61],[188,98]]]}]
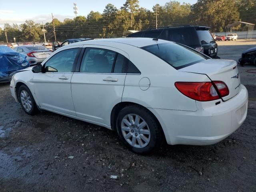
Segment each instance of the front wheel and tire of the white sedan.
[{"label": "front wheel and tire of the white sedan", "polygon": [[22,85],[19,88],[19,101],[22,109],[29,115],[36,114],[39,110],[36,106],[36,102],[32,93],[26,85]]}]

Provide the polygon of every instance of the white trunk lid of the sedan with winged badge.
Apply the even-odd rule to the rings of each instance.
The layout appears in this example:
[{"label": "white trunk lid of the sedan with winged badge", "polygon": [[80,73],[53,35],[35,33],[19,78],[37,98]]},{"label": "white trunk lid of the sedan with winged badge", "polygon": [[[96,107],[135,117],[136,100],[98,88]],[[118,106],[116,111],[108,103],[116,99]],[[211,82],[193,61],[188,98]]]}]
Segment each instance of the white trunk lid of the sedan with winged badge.
[{"label": "white trunk lid of the sedan with winged badge", "polygon": [[212,81],[224,82],[229,90],[228,96],[222,98],[226,101],[238,94],[240,90],[240,76],[236,65],[237,62],[234,60],[208,59],[178,71],[205,74]]}]

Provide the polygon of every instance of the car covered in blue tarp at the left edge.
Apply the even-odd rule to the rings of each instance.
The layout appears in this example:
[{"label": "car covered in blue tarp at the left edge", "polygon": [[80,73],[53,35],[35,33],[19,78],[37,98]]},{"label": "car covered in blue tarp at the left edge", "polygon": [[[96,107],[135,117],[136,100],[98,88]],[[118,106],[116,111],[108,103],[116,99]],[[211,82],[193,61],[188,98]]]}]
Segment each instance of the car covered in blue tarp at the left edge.
[{"label": "car covered in blue tarp at the left edge", "polygon": [[8,46],[0,46],[0,82],[10,82],[11,73],[29,67],[26,56]]}]

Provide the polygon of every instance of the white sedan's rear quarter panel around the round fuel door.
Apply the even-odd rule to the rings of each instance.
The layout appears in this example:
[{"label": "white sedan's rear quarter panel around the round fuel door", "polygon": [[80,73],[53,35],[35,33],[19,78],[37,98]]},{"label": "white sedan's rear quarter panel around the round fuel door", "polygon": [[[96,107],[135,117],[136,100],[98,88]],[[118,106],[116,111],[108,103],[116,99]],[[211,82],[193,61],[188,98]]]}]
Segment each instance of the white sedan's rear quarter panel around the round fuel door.
[{"label": "white sedan's rear quarter panel around the round fuel door", "polygon": [[[197,110],[195,100],[179,92],[174,83],[210,81],[206,75],[178,72],[162,59],[140,48],[134,48],[128,54],[141,74],[127,74],[122,102],[134,102],[147,108]],[[144,77],[150,80],[147,90],[142,90],[139,86]]]}]

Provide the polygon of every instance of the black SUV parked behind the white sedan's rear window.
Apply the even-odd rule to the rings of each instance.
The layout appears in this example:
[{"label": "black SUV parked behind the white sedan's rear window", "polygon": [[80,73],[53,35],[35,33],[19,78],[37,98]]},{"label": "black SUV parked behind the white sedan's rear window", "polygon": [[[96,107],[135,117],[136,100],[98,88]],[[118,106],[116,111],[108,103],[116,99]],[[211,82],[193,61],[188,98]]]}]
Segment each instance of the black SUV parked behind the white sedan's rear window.
[{"label": "black SUV parked behind the white sedan's rear window", "polygon": [[148,37],[173,41],[194,48],[211,58],[219,58],[217,56],[218,45],[209,29],[210,27],[206,26],[166,26],[132,33],[128,37]]}]

